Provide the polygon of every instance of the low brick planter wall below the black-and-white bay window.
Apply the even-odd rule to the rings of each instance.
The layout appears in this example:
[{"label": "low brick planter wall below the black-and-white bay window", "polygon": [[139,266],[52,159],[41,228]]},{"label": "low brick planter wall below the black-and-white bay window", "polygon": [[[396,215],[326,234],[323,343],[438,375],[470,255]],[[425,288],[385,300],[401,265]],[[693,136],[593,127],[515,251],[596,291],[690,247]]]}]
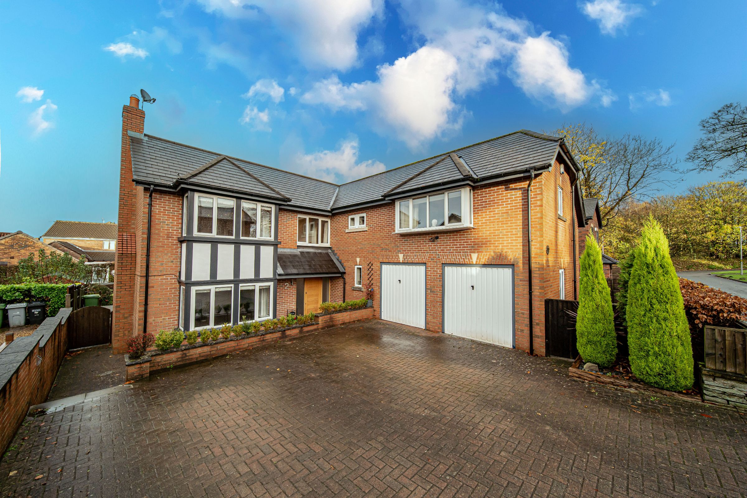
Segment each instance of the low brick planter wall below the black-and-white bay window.
[{"label": "low brick planter wall below the black-and-white bay window", "polygon": [[228,355],[232,352],[252,348],[258,343],[290,339],[291,337],[329,329],[344,323],[370,320],[371,318],[373,318],[373,308],[336,311],[317,315],[316,321],[308,325],[294,326],[282,330],[270,330],[246,337],[229,337],[228,339],[219,339],[208,343],[198,342],[193,346],[185,345],[165,352],[152,350],[147,353],[147,356],[143,356],[143,358],[137,360],[130,360],[125,357],[126,376],[128,381],[143,379],[148,377],[150,373],[158,372],[158,370]]}]

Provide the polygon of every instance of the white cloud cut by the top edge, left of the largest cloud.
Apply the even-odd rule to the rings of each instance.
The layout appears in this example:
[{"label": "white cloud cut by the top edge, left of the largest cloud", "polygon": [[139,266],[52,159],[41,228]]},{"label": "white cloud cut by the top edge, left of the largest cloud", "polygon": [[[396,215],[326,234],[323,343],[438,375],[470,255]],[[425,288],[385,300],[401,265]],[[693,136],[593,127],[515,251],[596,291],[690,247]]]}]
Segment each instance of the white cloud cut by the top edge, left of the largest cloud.
[{"label": "white cloud cut by the top edge, left of the largest cloud", "polygon": [[208,12],[269,17],[309,66],[345,70],[358,60],[358,33],[382,15],[383,0],[198,0]]}]

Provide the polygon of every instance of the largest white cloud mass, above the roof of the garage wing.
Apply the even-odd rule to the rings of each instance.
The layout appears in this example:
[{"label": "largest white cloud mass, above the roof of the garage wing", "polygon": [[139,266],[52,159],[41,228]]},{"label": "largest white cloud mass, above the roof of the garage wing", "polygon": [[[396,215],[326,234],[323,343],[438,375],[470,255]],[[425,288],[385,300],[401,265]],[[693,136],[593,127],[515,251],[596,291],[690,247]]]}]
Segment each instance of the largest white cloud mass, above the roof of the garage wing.
[{"label": "largest white cloud mass, above the roof of the garage wing", "polygon": [[617,99],[570,66],[562,41],[533,35],[529,22],[497,5],[464,0],[400,0],[400,13],[420,48],[377,69],[377,79],[343,83],[332,75],[312,85],[301,102],[333,111],[368,111],[377,131],[411,149],[461,127],[459,99],[498,81],[500,69],[528,96],[566,111],[598,99]]}]

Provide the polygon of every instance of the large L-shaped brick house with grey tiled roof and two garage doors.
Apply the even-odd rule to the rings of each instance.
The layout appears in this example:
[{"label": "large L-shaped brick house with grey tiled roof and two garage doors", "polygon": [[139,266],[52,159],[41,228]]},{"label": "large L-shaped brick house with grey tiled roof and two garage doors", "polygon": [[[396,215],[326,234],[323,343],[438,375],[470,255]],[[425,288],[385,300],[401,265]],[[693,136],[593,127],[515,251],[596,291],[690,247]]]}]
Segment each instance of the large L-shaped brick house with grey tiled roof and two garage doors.
[{"label": "large L-shaped brick house with grey tiled roof and two garage doors", "polygon": [[[545,352],[571,299],[577,165],[521,130],[346,184],[143,134],[123,107],[115,352],[133,334],[373,298],[382,320]],[[532,292],[530,292],[530,288]]]}]

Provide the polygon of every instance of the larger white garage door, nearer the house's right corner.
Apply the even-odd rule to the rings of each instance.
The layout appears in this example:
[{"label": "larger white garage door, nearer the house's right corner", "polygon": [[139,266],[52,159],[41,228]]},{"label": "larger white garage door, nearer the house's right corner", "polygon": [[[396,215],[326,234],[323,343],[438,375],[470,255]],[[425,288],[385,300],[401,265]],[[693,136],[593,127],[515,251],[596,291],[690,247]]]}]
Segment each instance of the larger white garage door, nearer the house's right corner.
[{"label": "larger white garage door, nearer the house's right corner", "polygon": [[444,267],[444,332],[513,347],[513,269]]}]

